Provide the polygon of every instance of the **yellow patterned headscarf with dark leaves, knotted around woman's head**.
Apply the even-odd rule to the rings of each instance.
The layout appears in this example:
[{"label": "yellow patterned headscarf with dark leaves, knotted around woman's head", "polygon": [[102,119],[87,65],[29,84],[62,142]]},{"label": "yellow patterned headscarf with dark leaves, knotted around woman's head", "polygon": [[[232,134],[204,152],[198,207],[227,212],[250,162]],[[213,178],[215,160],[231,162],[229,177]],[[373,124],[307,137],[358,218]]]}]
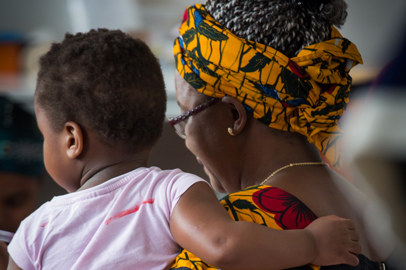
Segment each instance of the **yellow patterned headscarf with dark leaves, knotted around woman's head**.
[{"label": "yellow patterned headscarf with dark leaves, knotted around woman's head", "polygon": [[340,167],[343,131],[337,121],[348,104],[348,73],[362,58],[354,44],[331,28],[330,40],[289,59],[236,37],[196,4],[186,9],[179,27],[176,67],[199,92],[238,98],[260,122],[303,134]]}]

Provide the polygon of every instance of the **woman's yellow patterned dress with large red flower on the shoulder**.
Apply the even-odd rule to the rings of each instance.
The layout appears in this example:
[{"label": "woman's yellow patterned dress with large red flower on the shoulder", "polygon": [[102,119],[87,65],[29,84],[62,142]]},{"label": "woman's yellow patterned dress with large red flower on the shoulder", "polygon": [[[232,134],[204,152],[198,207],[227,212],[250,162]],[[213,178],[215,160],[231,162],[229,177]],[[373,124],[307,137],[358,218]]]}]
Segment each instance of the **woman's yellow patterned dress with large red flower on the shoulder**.
[{"label": "woman's yellow patterned dress with large red flower on the shoulder", "polygon": [[[235,221],[255,222],[269,228],[303,229],[317,216],[292,194],[272,186],[253,186],[226,195],[220,203]],[[198,257],[183,250],[172,270],[216,270]],[[320,270],[318,265],[296,267],[300,270]]]}]

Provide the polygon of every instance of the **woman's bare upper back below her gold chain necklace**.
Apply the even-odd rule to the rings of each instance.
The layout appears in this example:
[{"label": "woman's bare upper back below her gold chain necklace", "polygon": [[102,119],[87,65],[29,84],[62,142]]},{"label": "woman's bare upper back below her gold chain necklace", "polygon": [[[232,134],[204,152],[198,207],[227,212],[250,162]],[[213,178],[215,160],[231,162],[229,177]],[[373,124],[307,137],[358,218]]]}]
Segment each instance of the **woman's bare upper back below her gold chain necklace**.
[{"label": "woman's bare upper back below her gold chain necklace", "polygon": [[[296,196],[318,217],[336,215],[353,220],[360,233],[363,254],[373,261],[382,261],[366,241],[368,239],[362,213],[357,211],[357,203],[367,202],[365,195],[340,174],[326,167],[296,168],[300,177],[289,177],[296,172],[290,169],[285,175],[268,182]],[[300,171],[299,171],[300,170]],[[290,174],[292,173],[292,174]],[[345,194],[345,195],[344,195]],[[351,203],[352,202],[352,203]],[[390,251],[388,252],[388,256]]]}]

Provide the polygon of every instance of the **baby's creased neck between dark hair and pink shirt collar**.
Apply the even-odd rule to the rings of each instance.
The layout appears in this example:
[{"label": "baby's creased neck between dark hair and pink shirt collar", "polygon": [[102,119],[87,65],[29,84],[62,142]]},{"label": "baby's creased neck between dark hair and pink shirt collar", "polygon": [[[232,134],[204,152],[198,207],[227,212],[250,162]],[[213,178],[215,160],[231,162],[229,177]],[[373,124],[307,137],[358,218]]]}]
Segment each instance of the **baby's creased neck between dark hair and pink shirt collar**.
[{"label": "baby's creased neck between dark hair and pink shirt collar", "polygon": [[81,187],[77,191],[95,187],[137,168],[146,167],[148,165],[148,156],[149,151],[148,153],[140,153],[128,158],[87,162],[82,172]]}]

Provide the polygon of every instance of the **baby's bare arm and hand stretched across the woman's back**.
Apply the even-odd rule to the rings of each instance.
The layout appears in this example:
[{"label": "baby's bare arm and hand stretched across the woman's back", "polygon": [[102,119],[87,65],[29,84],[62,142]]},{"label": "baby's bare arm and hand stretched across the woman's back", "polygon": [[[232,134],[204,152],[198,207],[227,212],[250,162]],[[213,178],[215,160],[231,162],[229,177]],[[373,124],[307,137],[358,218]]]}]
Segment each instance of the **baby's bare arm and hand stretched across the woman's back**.
[{"label": "baby's bare arm and hand stretched across the woman's back", "polygon": [[201,182],[191,186],[175,206],[171,231],[183,248],[223,270],[278,270],[308,263],[357,265],[358,258],[350,252],[361,252],[350,220],[322,218],[303,230],[235,222]]}]

